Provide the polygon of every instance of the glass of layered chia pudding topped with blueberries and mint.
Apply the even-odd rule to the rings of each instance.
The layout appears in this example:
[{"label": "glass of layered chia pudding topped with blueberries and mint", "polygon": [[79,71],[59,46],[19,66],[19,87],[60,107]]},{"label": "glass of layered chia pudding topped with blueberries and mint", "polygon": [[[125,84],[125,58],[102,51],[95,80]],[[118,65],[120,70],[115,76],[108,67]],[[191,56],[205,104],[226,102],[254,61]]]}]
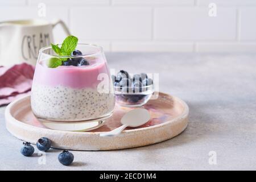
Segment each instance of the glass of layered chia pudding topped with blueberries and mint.
[{"label": "glass of layered chia pudding topped with blueberries and mint", "polygon": [[102,121],[110,117],[115,96],[102,48],[76,44],[72,51],[65,50],[64,43],[54,46],[39,51],[31,90],[35,117],[47,122]]}]

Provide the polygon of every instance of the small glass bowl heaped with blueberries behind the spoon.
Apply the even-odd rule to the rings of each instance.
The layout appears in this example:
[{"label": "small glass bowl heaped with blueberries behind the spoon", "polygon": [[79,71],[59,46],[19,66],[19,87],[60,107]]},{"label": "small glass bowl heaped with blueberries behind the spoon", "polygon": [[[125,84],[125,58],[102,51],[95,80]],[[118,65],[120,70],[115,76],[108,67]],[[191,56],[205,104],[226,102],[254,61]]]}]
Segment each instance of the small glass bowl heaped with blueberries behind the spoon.
[{"label": "small glass bowl heaped with blueberries behind the spoon", "polygon": [[112,75],[115,101],[124,107],[140,107],[147,103],[154,93],[153,81],[146,73],[129,75],[119,71]]}]

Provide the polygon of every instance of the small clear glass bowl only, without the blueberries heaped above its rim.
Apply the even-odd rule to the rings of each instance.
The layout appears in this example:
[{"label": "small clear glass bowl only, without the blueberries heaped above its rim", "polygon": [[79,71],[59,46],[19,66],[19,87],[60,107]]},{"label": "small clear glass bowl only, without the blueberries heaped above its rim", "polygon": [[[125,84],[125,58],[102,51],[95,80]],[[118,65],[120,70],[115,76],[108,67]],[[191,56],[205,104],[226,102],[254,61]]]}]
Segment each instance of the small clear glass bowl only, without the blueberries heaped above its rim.
[{"label": "small clear glass bowl only, without the blueberries heaped above its rim", "polygon": [[115,101],[123,107],[141,107],[150,100],[154,93],[154,86],[142,86],[141,89],[134,90],[131,87],[125,89],[114,86]]}]

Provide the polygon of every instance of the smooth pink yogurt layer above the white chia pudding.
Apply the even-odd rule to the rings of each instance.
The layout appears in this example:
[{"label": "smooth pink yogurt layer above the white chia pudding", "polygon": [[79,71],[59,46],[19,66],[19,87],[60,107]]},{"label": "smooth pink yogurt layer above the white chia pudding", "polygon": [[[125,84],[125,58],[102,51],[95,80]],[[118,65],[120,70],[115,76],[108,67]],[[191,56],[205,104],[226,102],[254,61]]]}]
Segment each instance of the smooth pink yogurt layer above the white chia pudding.
[{"label": "smooth pink yogurt layer above the white chia pudding", "polygon": [[97,88],[101,82],[98,80],[100,73],[106,73],[109,78],[109,71],[104,60],[90,60],[90,65],[74,67],[60,66],[48,68],[39,63],[36,65],[33,84],[47,86],[67,86],[69,88]]}]

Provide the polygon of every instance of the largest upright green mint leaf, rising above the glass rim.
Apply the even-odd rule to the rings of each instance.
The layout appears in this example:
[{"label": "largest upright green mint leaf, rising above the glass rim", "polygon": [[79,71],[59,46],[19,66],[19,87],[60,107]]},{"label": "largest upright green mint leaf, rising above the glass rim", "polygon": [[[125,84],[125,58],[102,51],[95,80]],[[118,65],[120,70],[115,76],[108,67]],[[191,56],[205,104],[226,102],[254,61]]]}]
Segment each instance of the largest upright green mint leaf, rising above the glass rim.
[{"label": "largest upright green mint leaf, rising above the glass rim", "polygon": [[71,53],[76,49],[78,39],[75,36],[68,36],[61,44],[60,51],[65,56],[70,56]]}]

